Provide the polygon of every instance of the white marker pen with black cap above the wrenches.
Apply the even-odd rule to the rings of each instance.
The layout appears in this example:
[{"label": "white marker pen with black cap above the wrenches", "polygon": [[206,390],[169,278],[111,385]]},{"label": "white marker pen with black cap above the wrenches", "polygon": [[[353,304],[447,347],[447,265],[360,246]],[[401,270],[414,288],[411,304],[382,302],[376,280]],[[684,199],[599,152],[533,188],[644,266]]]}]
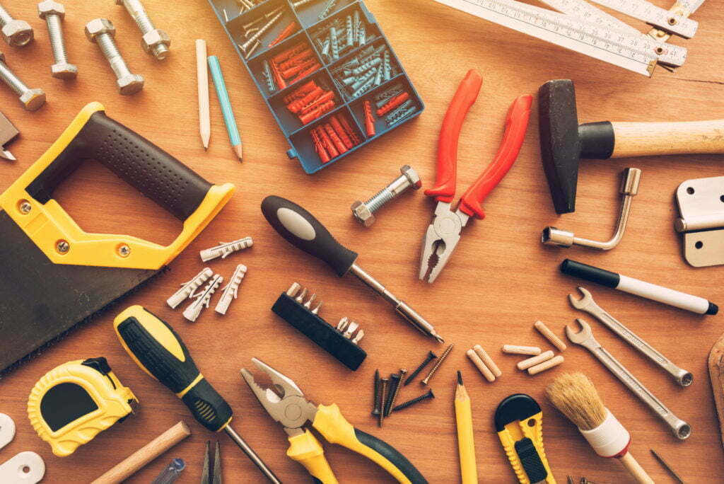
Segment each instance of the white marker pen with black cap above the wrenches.
[{"label": "white marker pen with black cap above the wrenches", "polygon": [[699,296],[691,296],[691,294],[674,291],[643,280],[629,278],[626,275],[599,269],[583,262],[565,259],[560,264],[560,272],[669,306],[686,309],[686,311],[696,314],[717,314],[719,312],[719,306]]}]

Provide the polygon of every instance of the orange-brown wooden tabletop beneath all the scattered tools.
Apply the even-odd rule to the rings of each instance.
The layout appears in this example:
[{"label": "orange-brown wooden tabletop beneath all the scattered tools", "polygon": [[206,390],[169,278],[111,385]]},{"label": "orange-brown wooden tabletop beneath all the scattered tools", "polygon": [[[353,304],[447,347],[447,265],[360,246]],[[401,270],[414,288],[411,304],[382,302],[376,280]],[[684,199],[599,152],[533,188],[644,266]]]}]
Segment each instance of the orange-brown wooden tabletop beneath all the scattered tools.
[{"label": "orange-brown wooden tabletop beneath all the scattered tools", "polygon": [[[219,22],[204,0],[150,1],[153,20],[172,38],[172,55],[157,62],[140,49],[140,35],[130,17],[113,1],[67,1],[64,30],[71,62],[80,75],[64,83],[49,75],[51,51],[46,28],[34,2],[4,1],[16,17],[35,28],[35,42],[24,49],[0,46],[7,63],[42,87],[48,103],[40,111],[24,112],[15,96],[0,86],[1,110],[20,128],[21,138],[7,146],[17,162],[2,162],[0,189],[7,188],[58,137],[72,117],[90,101],[101,101],[108,114],[215,183],[231,182],[237,192],[216,220],[171,264],[171,271],[127,297],[102,317],[75,330],[32,361],[0,380],[0,412],[17,425],[14,441],[0,461],[33,450],[46,460],[44,482],[87,482],[131,454],[179,420],[193,435],[138,472],[130,482],[148,483],[172,457],[188,464],[180,482],[198,482],[204,444],[222,443],[223,475],[227,482],[260,482],[251,462],[224,435],[212,435],[193,421],[185,406],[166,388],[141,372],[119,345],[111,320],[130,304],[143,304],[164,317],[190,346],[195,361],[235,409],[232,426],[285,482],[306,482],[299,464],[285,456],[286,434],[261,409],[239,375],[257,356],[292,377],[316,403],[340,405],[362,430],[391,443],[416,464],[431,483],[459,480],[452,394],[455,370],[463,370],[473,400],[477,464],[481,480],[513,483],[515,477],[492,426],[497,404],[511,393],[529,393],[544,411],[544,441],[559,482],[566,475],[586,476],[596,483],[628,482],[617,462],[599,459],[570,422],[544,399],[544,385],[560,372],[582,370],[592,377],[607,406],[630,430],[632,453],[660,483],[673,482],[654,461],[654,448],[672,462],[687,482],[720,482],[724,473],[722,445],[706,370],[712,343],[724,331],[723,315],[699,317],[652,301],[587,285],[599,304],[613,313],[673,362],[694,373],[690,388],[678,388],[670,378],[592,318],[597,339],[632,370],[656,395],[691,423],[694,433],[679,442],[626,388],[584,349],[571,346],[565,363],[529,377],[515,370],[518,358],[500,353],[503,343],[549,345],[533,329],[543,320],[563,338],[563,326],[581,317],[566,301],[578,281],[557,270],[571,257],[632,277],[648,280],[724,304],[724,267],[694,269],[681,255],[680,236],[673,230],[678,215],[673,193],[683,181],[722,175],[723,158],[673,156],[583,162],[575,214],[556,217],[541,168],[537,106],[518,162],[485,201],[487,219],[473,221],[450,264],[428,285],[417,279],[420,241],[432,217],[434,203],[420,192],[407,193],[379,212],[372,228],[357,225],[349,206],[369,197],[411,164],[424,185],[434,180],[437,135],[447,104],[471,68],[484,85],[460,137],[458,193],[462,193],[492,159],[500,142],[505,112],[515,96],[536,93],[550,79],[576,83],[581,122],[597,120],[702,120],[722,117],[724,96],[724,9],[706,2],[694,18],[696,37],[677,44],[689,48],[684,67],[670,73],[657,69],[647,79],[602,62],[565,51],[489,22],[469,17],[430,0],[367,0],[393,48],[426,103],[425,112],[317,175],[303,173],[287,159],[288,146],[261,96],[245,72]],[[670,1],[657,0],[661,7]],[[107,17],[117,26],[117,40],[134,72],[146,77],[146,88],[135,96],[119,96],[108,65],[97,47],[83,36],[85,22]],[[640,26],[632,23],[632,25]],[[211,93],[212,136],[204,151],[198,136],[195,78],[195,38],[209,42],[209,54],[219,56],[237,121],[245,141],[244,161],[233,156],[216,96]],[[539,243],[540,230],[557,225],[577,235],[605,239],[618,212],[618,183],[625,167],[643,170],[641,190],[620,246],[607,253],[586,249],[555,249]],[[351,276],[339,279],[310,256],[293,249],[271,230],[259,204],[269,195],[285,196],[305,206],[339,241],[360,253],[358,263],[434,323],[446,343],[455,343],[450,358],[432,380],[436,398],[391,417],[376,427],[371,409],[372,377],[400,367],[413,368],[429,349],[445,346],[425,338],[395,316],[389,306]],[[130,233],[169,243],[180,223],[98,164],[75,172],[56,198],[89,232]],[[225,260],[202,264],[198,251],[251,235],[252,249]],[[208,309],[195,323],[172,311],[165,301],[190,276],[209,265],[228,277],[236,264],[249,268],[239,299],[224,316]],[[1,277],[12,278],[12,274]],[[350,372],[271,313],[279,293],[293,281],[311,288],[324,300],[321,315],[336,322],[348,316],[365,330],[361,346],[369,357]],[[60,291],[67,288],[59,288]],[[1,297],[1,295],[0,295]],[[215,301],[215,300],[214,300]],[[214,303],[215,304],[215,303]],[[466,359],[465,351],[482,344],[503,375],[486,383]],[[0,347],[12,341],[0,342]],[[111,427],[75,454],[58,458],[33,432],[25,405],[33,384],[46,371],[73,359],[106,356],[116,375],[140,399],[140,412]],[[425,391],[404,388],[400,400]],[[327,456],[342,482],[389,480],[379,468],[350,451],[325,443]]]}]

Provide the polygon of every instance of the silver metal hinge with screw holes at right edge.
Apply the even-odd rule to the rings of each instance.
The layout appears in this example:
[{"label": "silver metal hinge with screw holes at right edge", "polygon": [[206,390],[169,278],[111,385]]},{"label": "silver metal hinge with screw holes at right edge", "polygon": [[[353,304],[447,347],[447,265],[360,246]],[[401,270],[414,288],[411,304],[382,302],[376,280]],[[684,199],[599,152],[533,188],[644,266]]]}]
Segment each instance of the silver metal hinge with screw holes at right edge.
[{"label": "silver metal hinge with screw holes at right edge", "polygon": [[724,177],[686,180],[676,189],[683,256],[694,267],[724,264]]}]

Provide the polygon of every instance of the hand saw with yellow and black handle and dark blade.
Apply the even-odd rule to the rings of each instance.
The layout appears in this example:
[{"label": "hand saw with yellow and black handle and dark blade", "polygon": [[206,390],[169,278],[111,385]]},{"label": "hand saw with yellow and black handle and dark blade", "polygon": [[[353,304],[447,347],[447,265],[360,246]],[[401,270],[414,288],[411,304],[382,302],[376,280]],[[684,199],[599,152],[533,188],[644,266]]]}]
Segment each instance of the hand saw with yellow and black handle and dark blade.
[{"label": "hand saw with yellow and black handle and dark blade", "polygon": [[[164,270],[235,190],[207,182],[104,111],[84,107],[0,195],[0,373]],[[182,220],[176,240],[84,232],[53,191],[86,159]]]}]

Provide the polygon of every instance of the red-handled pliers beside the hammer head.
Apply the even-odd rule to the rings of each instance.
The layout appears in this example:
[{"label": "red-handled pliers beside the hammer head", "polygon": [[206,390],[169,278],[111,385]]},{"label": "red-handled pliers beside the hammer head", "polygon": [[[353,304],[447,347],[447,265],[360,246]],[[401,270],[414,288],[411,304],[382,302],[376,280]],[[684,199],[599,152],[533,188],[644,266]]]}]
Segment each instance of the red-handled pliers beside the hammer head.
[{"label": "red-handled pliers beside the hammer head", "polygon": [[482,83],[483,78],[476,70],[468,71],[442,122],[437,147],[437,178],[434,188],[425,191],[425,195],[433,196],[437,200],[434,218],[423,239],[420,261],[420,279],[426,279],[429,283],[437,278],[447,264],[468,219],[485,218],[481,203],[513,166],[526,136],[533,101],[529,94],[519,96],[513,101],[505,119],[505,134],[500,149],[492,163],[460,197],[458,208],[453,212],[451,207],[452,199],[455,198],[460,129],[466,114],[478,97]]}]

